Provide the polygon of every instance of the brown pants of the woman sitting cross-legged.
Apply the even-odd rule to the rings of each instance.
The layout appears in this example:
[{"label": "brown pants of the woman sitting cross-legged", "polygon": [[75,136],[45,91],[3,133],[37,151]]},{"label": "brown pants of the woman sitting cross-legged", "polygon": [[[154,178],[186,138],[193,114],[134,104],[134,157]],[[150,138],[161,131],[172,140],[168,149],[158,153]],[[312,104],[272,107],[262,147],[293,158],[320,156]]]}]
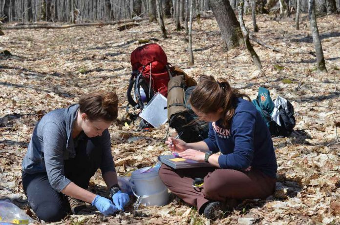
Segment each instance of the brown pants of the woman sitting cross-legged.
[{"label": "brown pants of the woman sitting cross-legged", "polygon": [[[159,177],[172,193],[189,205],[201,206],[208,201],[230,199],[264,199],[273,194],[276,179],[259,170],[238,171],[216,167],[172,169],[163,164]],[[204,178],[201,188],[193,188],[194,178]]]}]

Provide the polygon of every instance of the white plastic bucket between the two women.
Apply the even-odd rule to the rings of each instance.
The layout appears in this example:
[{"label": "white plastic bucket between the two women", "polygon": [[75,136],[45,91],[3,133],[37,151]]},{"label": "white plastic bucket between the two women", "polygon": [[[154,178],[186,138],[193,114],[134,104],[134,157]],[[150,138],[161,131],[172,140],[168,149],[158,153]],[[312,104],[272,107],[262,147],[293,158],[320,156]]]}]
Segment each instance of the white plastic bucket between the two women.
[{"label": "white plastic bucket between the two women", "polygon": [[138,198],[135,208],[143,205],[167,205],[169,202],[168,188],[158,176],[157,167],[137,169],[131,174],[131,189]]}]

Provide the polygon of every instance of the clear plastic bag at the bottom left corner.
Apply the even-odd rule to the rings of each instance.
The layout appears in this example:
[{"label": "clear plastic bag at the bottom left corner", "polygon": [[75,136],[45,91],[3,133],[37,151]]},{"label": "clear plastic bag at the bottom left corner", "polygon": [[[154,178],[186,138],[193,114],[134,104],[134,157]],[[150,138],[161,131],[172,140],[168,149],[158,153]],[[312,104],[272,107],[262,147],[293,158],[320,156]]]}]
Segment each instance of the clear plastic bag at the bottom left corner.
[{"label": "clear plastic bag at the bottom left corner", "polygon": [[30,224],[34,220],[29,217],[21,208],[11,202],[0,201],[0,225]]}]

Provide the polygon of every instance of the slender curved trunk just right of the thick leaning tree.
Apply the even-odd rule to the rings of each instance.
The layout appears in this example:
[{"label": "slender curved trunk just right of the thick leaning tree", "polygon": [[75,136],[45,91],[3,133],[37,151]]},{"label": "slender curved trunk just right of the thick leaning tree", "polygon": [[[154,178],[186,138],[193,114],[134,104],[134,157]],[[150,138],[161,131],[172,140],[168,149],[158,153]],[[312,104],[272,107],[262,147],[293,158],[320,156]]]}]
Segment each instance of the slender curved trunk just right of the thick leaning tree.
[{"label": "slender curved trunk just right of the thick leaning tree", "polygon": [[262,69],[262,64],[260,61],[260,58],[257,56],[252,44],[249,41],[249,34],[248,34],[248,30],[246,28],[246,25],[244,25],[244,21],[243,21],[243,6],[244,6],[244,0],[239,0],[238,1],[238,20],[240,22],[240,26],[242,29],[242,33],[243,33],[243,38],[244,38],[244,42],[246,44],[246,47],[249,51],[249,53],[252,55],[254,64],[257,66],[258,70]]}]

